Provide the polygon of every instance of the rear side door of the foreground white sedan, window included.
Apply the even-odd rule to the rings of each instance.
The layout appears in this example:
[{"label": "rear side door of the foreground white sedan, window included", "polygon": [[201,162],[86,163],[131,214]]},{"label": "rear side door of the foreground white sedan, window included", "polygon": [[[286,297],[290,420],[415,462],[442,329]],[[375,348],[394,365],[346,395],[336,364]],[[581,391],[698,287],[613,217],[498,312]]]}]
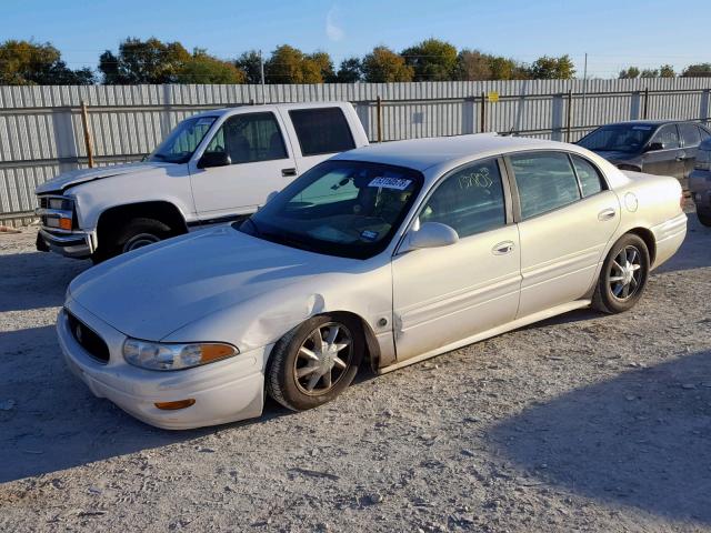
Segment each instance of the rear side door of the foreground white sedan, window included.
[{"label": "rear side door of the foreground white sedan, window included", "polygon": [[511,154],[521,241],[518,316],[582,299],[620,222],[600,170],[565,152]]}]

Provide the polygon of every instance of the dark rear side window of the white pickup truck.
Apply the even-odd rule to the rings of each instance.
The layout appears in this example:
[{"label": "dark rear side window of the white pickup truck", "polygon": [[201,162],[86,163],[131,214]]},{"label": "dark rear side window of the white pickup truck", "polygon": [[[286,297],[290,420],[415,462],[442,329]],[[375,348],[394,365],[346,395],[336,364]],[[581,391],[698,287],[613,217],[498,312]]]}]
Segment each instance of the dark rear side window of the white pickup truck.
[{"label": "dark rear side window of the white pickup truck", "polygon": [[303,155],[344,152],[356,148],[351,129],[340,108],[289,111]]}]

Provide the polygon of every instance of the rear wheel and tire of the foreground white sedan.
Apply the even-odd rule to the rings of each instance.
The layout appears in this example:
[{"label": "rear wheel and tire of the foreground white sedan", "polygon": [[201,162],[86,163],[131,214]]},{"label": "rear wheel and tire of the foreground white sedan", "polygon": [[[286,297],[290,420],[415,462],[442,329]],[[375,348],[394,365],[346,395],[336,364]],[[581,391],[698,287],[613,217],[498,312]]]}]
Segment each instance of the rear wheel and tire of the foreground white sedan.
[{"label": "rear wheel and tire of the foreground white sedan", "polygon": [[622,235],[602,263],[592,306],[605,313],[632,309],[647,288],[649,266],[644,241],[633,233]]}]

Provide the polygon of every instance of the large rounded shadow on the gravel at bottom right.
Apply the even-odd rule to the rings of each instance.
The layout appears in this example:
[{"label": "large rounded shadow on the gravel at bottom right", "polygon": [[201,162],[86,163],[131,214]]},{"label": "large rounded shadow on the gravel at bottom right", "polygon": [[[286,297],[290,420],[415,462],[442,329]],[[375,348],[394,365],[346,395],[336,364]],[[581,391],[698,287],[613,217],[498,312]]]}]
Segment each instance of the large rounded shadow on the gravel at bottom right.
[{"label": "large rounded shadow on the gravel at bottom right", "polygon": [[711,350],[533,404],[489,436],[572,493],[711,523]]}]

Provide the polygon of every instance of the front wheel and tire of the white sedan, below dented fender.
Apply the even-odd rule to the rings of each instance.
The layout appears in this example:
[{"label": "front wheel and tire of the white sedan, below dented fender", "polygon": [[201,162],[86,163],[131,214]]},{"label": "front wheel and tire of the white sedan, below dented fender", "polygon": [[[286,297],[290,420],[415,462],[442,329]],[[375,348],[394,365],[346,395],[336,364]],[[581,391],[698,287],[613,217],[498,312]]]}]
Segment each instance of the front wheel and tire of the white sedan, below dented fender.
[{"label": "front wheel and tire of the white sedan, below dented fender", "polygon": [[[330,340],[334,329],[337,335]],[[332,346],[330,351],[322,350],[323,344],[321,349],[318,348],[317,332],[326,341],[326,346]],[[347,345],[338,350],[341,344]],[[364,348],[358,320],[328,314],[313,316],[274,345],[264,375],[267,392],[292,411],[323,405],[351,384],[363,359]]]}]

